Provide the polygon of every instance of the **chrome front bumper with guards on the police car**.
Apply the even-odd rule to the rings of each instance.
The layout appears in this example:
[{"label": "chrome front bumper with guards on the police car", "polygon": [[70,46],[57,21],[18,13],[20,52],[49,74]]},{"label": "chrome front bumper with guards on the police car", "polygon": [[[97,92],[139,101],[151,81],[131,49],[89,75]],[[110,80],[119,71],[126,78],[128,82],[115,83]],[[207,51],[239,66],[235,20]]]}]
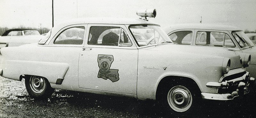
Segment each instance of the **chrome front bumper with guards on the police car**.
[{"label": "chrome front bumper with guards on the police car", "polygon": [[[203,99],[208,100],[219,100],[219,101],[228,101],[233,100],[236,97],[243,96],[248,94],[252,89],[255,83],[255,79],[250,77],[250,74],[247,72],[242,77],[225,80],[221,83],[219,82],[208,82],[207,87],[218,88],[218,90],[227,90],[227,93],[214,94],[214,93],[201,93]],[[230,90],[231,91],[230,91]],[[233,91],[234,90],[234,91]]]}]

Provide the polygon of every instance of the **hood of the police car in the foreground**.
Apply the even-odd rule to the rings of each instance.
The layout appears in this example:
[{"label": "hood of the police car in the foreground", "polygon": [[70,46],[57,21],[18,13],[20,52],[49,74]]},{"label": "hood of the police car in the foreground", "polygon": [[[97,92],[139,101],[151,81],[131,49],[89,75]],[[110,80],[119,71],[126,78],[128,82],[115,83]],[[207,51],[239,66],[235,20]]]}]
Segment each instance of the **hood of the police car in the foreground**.
[{"label": "hood of the police car in the foreground", "polygon": [[[157,50],[161,52],[180,52],[180,54],[194,53],[199,55],[218,56],[230,59],[230,69],[241,68],[240,56],[234,51],[229,51],[222,48],[191,46],[191,45],[177,45],[177,44],[163,44],[149,47],[149,50]],[[223,60],[220,60],[223,61]]]}]

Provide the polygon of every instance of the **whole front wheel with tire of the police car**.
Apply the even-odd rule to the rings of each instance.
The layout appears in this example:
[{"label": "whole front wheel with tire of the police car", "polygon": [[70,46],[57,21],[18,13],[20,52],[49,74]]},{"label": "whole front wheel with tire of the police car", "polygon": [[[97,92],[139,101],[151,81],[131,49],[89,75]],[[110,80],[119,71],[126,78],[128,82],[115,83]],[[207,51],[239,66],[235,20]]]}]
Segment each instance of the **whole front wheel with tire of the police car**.
[{"label": "whole front wheel with tire of the police car", "polygon": [[201,107],[201,93],[196,87],[173,85],[163,90],[160,102],[169,115],[195,115]]}]

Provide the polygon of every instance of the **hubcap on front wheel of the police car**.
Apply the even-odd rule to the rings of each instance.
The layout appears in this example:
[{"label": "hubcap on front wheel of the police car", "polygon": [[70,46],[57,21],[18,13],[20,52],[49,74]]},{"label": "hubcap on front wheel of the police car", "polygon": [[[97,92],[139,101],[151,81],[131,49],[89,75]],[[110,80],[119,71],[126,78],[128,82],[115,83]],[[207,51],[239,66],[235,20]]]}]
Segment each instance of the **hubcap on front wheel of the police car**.
[{"label": "hubcap on front wheel of the police car", "polygon": [[184,86],[175,86],[170,89],[167,96],[170,107],[177,112],[187,111],[192,105],[192,95]]}]

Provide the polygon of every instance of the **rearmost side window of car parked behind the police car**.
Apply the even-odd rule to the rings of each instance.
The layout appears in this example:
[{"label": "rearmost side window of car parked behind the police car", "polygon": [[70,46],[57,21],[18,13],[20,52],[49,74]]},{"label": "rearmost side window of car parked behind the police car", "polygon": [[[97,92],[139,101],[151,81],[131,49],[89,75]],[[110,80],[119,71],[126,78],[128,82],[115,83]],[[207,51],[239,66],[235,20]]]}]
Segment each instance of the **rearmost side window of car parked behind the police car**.
[{"label": "rearmost side window of car parked behind the police car", "polygon": [[169,37],[174,43],[190,45],[192,42],[192,31],[174,32]]}]

